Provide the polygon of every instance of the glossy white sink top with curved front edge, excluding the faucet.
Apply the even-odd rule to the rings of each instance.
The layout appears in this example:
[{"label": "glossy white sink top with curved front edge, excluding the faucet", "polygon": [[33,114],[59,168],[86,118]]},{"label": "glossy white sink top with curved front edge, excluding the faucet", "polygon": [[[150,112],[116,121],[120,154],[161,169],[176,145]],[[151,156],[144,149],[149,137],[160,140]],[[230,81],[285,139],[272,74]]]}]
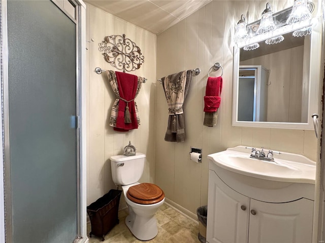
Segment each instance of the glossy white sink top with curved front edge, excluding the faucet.
[{"label": "glossy white sink top with curved front edge, excluding the faucet", "polygon": [[274,161],[266,161],[251,158],[250,152],[250,148],[237,146],[210,154],[208,158],[225,170],[245,176],[279,182],[315,184],[316,163],[303,155],[275,152]]}]

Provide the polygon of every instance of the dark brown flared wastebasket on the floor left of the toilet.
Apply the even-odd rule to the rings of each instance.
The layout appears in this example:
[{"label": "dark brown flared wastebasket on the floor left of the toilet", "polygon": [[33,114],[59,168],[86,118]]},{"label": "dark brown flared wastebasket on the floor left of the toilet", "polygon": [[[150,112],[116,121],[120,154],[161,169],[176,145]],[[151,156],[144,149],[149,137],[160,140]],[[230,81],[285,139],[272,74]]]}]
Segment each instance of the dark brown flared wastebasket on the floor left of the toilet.
[{"label": "dark brown flared wastebasket on the floor left of the toilet", "polygon": [[107,194],[87,207],[91,223],[90,237],[91,235],[101,236],[104,241],[108,231],[119,223],[118,205],[121,193],[121,190],[111,189]]}]

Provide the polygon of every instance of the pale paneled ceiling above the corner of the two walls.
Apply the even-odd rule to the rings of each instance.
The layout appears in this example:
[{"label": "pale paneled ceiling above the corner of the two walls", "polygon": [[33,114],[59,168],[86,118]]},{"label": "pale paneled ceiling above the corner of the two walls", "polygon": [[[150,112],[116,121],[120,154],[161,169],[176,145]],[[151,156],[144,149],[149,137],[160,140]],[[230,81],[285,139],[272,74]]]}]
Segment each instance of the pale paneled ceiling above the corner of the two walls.
[{"label": "pale paneled ceiling above the corner of the two walls", "polygon": [[159,34],[210,3],[210,0],[85,0],[85,2],[154,34]]}]

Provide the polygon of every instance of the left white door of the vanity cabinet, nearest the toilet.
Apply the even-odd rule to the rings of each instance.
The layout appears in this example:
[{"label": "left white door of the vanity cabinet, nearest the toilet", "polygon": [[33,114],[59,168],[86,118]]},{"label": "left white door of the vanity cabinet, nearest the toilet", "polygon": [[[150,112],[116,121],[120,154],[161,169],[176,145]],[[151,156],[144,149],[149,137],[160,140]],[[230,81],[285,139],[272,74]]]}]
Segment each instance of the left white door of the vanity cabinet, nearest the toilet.
[{"label": "left white door of the vanity cabinet, nearest the toilet", "polygon": [[208,243],[247,242],[249,198],[225,185],[209,171]]}]

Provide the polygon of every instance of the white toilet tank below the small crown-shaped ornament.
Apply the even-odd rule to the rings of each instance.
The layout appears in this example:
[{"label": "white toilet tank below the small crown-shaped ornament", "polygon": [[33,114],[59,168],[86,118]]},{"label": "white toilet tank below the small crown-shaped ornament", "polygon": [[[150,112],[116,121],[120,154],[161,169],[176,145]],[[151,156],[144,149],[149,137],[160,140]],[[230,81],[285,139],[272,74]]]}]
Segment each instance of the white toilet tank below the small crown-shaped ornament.
[{"label": "white toilet tank below the small crown-shaped ornament", "polygon": [[146,155],[136,153],[136,155],[114,155],[110,157],[112,179],[116,185],[130,185],[140,180]]}]

